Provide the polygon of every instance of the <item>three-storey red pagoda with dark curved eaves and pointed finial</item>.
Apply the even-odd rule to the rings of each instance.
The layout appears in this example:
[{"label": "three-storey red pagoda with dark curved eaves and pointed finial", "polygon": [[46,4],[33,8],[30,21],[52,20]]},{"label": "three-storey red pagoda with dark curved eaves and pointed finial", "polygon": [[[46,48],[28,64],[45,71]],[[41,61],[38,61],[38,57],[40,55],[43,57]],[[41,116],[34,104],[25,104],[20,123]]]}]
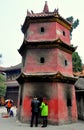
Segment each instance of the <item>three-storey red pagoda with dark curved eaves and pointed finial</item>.
[{"label": "three-storey red pagoda with dark curved eaves and pointed finial", "polygon": [[49,11],[47,1],[41,13],[29,12],[22,25],[24,39],[18,97],[18,119],[29,122],[31,100],[46,97],[48,122],[65,124],[77,121],[77,106],[72,71],[70,30],[72,24],[60,16],[58,9]]}]

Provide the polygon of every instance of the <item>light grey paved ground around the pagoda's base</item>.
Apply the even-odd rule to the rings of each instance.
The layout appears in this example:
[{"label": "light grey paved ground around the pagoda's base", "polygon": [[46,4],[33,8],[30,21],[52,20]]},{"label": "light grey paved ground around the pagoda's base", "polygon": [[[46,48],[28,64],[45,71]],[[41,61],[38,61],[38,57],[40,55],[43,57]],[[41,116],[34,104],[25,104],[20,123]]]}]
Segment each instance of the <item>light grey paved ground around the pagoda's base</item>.
[{"label": "light grey paved ground around the pagoda's base", "polygon": [[[13,108],[13,110],[15,113],[16,109]],[[40,125],[38,127],[31,128],[29,124],[19,122],[16,115],[14,115],[14,117],[3,118],[2,115],[5,112],[5,108],[0,109],[0,130],[84,130],[84,121],[78,121],[77,123],[60,126],[48,125],[46,128],[41,128]]]}]

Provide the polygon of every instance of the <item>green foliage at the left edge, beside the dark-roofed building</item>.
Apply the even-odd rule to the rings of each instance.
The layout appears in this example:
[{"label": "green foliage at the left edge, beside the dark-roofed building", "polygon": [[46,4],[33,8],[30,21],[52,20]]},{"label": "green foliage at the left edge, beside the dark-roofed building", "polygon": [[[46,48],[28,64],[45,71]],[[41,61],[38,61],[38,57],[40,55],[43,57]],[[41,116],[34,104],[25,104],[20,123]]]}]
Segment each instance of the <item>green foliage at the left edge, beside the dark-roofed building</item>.
[{"label": "green foliage at the left edge, beside the dark-roofed building", "polygon": [[0,73],[0,97],[5,96],[6,94],[6,76],[2,73]]}]

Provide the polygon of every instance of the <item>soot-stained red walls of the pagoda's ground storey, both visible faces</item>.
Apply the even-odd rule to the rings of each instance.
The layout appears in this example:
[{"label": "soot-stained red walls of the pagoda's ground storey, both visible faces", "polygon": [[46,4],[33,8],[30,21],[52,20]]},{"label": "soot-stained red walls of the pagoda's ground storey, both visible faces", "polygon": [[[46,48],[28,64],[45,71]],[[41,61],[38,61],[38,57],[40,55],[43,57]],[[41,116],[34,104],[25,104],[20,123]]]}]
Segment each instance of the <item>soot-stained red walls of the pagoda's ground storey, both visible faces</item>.
[{"label": "soot-stained red walls of the pagoda's ground storey, both visible faces", "polygon": [[[42,87],[42,89],[41,89]],[[38,90],[40,88],[40,90]],[[46,91],[44,91],[44,89]],[[70,89],[72,106],[67,106],[67,91]],[[23,121],[30,120],[31,118],[31,100],[32,96],[36,93],[42,93],[47,97],[49,106],[48,120],[52,124],[62,124],[69,121],[70,119],[76,121],[77,119],[77,108],[74,93],[74,86],[63,84],[63,83],[48,83],[48,82],[33,82],[25,83],[23,89],[23,102],[21,110],[21,119]],[[71,114],[71,115],[70,115]]]}]

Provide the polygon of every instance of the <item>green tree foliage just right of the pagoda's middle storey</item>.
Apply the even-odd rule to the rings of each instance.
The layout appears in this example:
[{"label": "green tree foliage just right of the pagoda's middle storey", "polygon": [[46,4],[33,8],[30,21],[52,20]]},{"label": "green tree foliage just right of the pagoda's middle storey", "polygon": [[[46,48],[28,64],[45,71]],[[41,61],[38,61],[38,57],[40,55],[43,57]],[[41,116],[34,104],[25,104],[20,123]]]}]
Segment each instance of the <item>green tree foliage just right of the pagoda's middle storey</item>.
[{"label": "green tree foliage just right of the pagoda's middle storey", "polygon": [[73,71],[79,72],[82,71],[82,60],[78,55],[78,52],[74,52],[72,54],[72,64],[73,64]]}]

